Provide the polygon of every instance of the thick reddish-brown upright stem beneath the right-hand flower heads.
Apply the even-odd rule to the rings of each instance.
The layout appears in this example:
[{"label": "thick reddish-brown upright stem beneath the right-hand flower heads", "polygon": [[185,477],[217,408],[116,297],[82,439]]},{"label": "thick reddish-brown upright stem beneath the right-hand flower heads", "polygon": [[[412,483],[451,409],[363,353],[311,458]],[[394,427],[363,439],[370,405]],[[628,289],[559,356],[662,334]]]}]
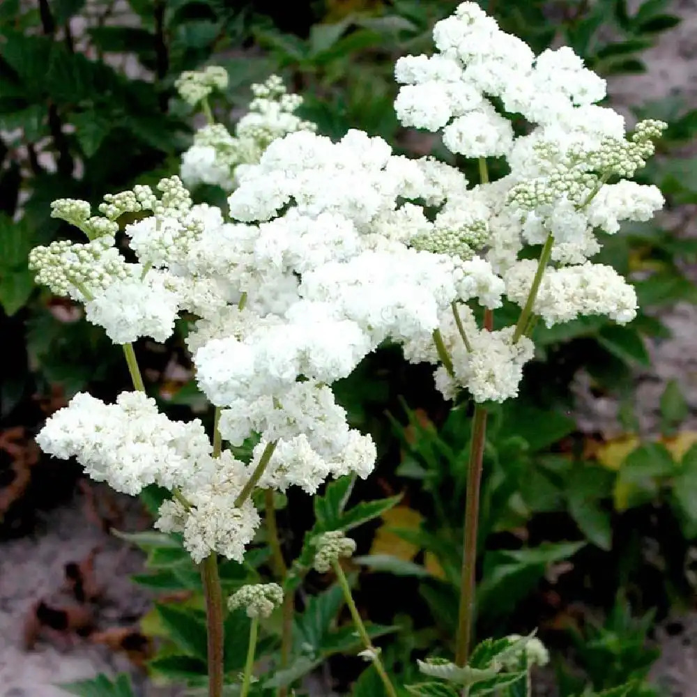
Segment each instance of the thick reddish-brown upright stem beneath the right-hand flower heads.
[{"label": "thick reddish-brown upright stem beneath the right-hand flower heads", "polygon": [[462,541],[462,570],[460,576],[460,605],[457,615],[457,642],[455,663],[465,666],[470,654],[470,640],[475,615],[475,569],[477,566],[477,525],[479,523],[482,462],[487,438],[487,410],[475,406],[472,420],[472,440],[467,465],[467,500],[465,530]]}]

